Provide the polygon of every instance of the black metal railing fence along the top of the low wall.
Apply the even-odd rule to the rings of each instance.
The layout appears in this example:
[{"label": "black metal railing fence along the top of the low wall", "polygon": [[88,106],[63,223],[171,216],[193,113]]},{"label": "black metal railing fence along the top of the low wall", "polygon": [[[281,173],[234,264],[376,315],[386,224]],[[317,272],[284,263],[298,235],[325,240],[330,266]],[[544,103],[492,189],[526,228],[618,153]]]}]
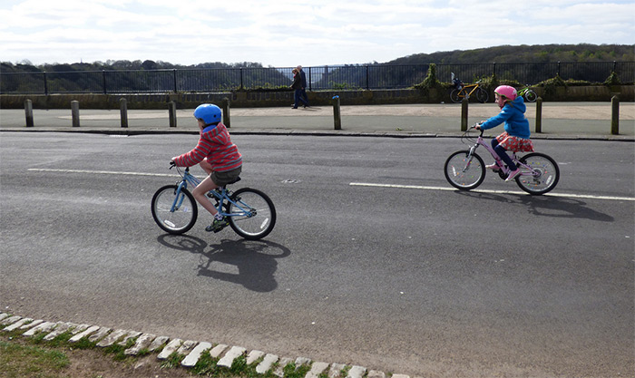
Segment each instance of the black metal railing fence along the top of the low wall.
[{"label": "black metal railing fence along the top of the low wall", "polygon": [[[429,64],[306,67],[308,90],[399,89],[423,82]],[[292,68],[228,68],[0,73],[2,94],[229,92],[279,89],[292,81]],[[436,64],[436,76],[463,82],[495,74],[499,80],[535,84],[559,75],[563,80],[604,82],[616,73],[635,82],[635,62]]]}]

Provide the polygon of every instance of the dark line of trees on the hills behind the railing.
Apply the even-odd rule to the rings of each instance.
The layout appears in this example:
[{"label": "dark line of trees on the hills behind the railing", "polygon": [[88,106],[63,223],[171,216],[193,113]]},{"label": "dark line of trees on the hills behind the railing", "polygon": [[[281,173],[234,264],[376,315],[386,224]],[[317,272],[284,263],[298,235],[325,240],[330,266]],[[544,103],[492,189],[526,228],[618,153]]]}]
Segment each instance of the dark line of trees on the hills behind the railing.
[{"label": "dark line of trees on the hills behind the railing", "polygon": [[[522,83],[537,83],[560,74],[559,62],[569,62],[571,79],[604,82],[618,70],[633,81],[635,45],[548,44],[497,46],[468,51],[414,54],[388,63],[306,67],[309,89],[376,89],[412,87],[425,80],[428,64],[437,64],[439,80],[456,72],[464,82],[491,75]],[[495,63],[495,64],[494,64]],[[609,64],[607,64],[609,63]],[[609,67],[609,68],[607,68]],[[611,73],[611,67],[613,72]],[[106,61],[94,63],[0,63],[0,92],[171,92],[231,91],[287,88],[291,68],[261,63],[200,63]],[[567,77],[565,77],[567,79]],[[616,79],[618,79],[616,77]],[[533,82],[532,82],[533,80]]]}]

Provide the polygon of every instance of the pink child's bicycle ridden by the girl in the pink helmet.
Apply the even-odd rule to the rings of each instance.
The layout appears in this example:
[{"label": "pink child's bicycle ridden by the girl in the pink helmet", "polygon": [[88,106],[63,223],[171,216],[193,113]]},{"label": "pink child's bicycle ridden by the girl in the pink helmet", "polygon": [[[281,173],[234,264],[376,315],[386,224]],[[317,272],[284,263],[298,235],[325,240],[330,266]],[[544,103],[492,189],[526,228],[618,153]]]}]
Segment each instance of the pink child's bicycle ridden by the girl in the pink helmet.
[{"label": "pink child's bicycle ridden by the girl in the pink helmet", "polygon": [[[484,141],[483,130],[481,134],[474,140],[474,136],[470,136],[469,132],[477,126],[474,124],[468,131],[464,132],[461,141],[468,141],[474,145],[469,150],[459,150],[450,155],[445,160],[445,179],[456,189],[470,190],[475,189],[485,179],[485,164],[483,159],[476,154],[478,146],[483,146],[498,164],[498,172],[501,179],[507,179],[510,169],[504,164],[503,160],[493,150],[493,148]],[[523,157],[517,157],[515,152],[511,156],[513,163],[521,170],[521,174],[516,176],[516,184],[532,195],[540,195],[547,193],[555,188],[560,179],[560,169],[558,164],[548,155],[541,152],[530,152]]]}]

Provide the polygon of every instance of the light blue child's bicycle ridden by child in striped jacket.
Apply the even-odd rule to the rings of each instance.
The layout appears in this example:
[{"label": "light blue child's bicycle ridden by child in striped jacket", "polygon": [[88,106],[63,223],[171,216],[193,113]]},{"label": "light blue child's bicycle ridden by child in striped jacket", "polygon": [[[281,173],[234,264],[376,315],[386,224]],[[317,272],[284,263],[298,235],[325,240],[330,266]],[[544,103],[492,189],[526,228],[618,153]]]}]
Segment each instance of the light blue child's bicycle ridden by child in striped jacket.
[{"label": "light blue child's bicycle ridden by child in striped jacket", "polygon": [[[180,235],[190,230],[196,223],[199,210],[188,185],[195,188],[200,179],[190,174],[190,168],[177,171],[181,181],[166,185],[154,193],[151,202],[152,218],[164,231]],[[240,178],[230,182],[236,183]],[[228,185],[230,185],[228,184]],[[266,237],[276,225],[276,208],[269,197],[258,189],[241,188],[235,192],[227,186],[210,190],[207,194],[216,203],[219,214],[226,217],[230,227],[240,236],[249,240]],[[214,232],[218,232],[216,230]]]}]

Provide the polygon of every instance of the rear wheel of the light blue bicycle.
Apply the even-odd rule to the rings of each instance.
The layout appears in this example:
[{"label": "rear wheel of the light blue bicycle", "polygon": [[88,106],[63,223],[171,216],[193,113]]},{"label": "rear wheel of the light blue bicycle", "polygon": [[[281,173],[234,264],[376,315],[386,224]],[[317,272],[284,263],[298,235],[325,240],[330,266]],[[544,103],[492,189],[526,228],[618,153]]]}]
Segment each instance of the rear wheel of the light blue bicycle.
[{"label": "rear wheel of the light blue bicycle", "polygon": [[[230,214],[230,227],[240,237],[258,240],[269,235],[276,226],[276,207],[269,197],[258,189],[241,188],[230,197],[226,206]],[[232,203],[235,202],[236,204]],[[249,213],[246,213],[246,210]]]}]

